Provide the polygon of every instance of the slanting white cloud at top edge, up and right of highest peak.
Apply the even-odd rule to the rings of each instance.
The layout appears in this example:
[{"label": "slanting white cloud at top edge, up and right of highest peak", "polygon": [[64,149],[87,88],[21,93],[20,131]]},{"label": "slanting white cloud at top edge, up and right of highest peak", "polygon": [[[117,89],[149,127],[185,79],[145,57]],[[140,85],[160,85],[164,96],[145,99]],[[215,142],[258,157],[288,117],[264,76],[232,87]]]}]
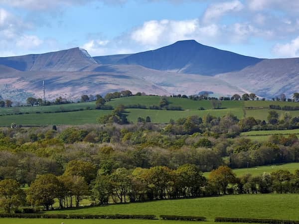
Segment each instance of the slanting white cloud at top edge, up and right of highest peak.
[{"label": "slanting white cloud at top edge, up and right of highest peak", "polygon": [[211,4],[204,12],[203,21],[211,22],[226,13],[240,11],[244,5],[239,0],[224,1]]}]

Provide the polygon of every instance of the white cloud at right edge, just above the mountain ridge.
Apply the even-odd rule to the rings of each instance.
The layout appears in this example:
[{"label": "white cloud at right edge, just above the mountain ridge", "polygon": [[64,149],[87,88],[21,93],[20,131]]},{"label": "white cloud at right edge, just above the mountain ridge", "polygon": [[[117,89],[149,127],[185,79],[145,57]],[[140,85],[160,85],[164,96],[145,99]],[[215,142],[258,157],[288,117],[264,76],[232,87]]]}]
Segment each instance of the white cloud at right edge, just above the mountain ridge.
[{"label": "white cloud at right edge, just above the mountain ridge", "polygon": [[299,36],[290,43],[275,45],[273,52],[280,57],[299,57]]}]

